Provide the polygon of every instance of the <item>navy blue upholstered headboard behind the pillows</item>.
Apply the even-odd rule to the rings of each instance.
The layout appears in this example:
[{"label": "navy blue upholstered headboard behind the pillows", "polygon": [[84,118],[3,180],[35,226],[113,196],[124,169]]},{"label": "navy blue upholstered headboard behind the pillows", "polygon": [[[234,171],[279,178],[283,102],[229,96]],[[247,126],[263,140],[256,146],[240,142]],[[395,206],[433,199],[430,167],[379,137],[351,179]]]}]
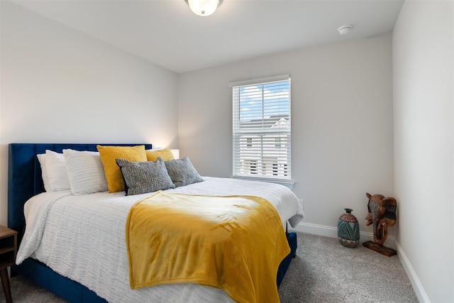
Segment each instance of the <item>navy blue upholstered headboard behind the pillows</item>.
[{"label": "navy blue upholstered headboard behind the pillows", "polygon": [[36,155],[45,153],[45,150],[53,150],[62,153],[65,148],[73,150],[97,151],[96,145],[145,145],[145,149],[151,148],[151,144],[65,144],[65,143],[11,143],[9,144],[9,170],[8,170],[8,227],[19,232],[22,236],[25,230],[25,218],[23,216],[23,204],[35,194],[44,192],[41,167]]}]

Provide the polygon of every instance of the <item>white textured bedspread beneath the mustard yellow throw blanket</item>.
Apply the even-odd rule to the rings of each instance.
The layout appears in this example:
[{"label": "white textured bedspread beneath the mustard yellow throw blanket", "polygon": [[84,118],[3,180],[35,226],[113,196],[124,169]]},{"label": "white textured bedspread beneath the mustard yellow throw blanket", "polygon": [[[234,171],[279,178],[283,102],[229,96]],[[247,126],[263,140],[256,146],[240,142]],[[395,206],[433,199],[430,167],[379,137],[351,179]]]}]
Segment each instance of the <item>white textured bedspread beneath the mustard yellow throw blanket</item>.
[{"label": "white textured bedspread beneath the mustard yellow throw blanket", "polygon": [[[258,196],[275,205],[283,224],[288,220],[292,226],[297,226],[303,219],[297,197],[282,185],[215,177],[204,177],[204,180],[167,191]],[[102,192],[72,196],[69,191],[38,194],[24,208],[26,233],[16,263],[28,257],[40,260],[109,302],[231,302],[222,290],[201,285],[130,289],[126,217],[131,206],[148,195]]]}]

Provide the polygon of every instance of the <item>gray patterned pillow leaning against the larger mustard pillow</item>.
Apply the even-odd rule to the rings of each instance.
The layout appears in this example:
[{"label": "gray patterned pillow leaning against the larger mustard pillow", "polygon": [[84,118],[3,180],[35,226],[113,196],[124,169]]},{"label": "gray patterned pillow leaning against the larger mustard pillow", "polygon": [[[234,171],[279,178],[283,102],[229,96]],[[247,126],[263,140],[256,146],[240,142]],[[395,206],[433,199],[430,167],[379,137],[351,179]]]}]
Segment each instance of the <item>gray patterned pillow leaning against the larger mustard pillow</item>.
[{"label": "gray patterned pillow leaning against the larger mustard pillow", "polygon": [[162,158],[157,158],[156,162],[132,162],[116,159],[116,164],[120,167],[125,181],[125,192],[128,196],[175,188]]}]

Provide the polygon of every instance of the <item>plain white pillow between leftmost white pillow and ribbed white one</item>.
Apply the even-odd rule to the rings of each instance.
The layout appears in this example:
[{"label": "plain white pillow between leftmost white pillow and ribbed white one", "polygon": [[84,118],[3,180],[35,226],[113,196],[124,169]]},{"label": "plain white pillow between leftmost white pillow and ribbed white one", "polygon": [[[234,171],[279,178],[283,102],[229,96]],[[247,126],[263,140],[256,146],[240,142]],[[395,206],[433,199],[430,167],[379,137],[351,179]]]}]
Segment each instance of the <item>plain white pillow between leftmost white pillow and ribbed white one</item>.
[{"label": "plain white pillow between leftmost white pillow and ribbed white one", "polygon": [[55,153],[52,150],[45,150],[45,171],[48,176],[47,192],[70,189],[70,180],[66,170],[65,157],[62,153]]}]

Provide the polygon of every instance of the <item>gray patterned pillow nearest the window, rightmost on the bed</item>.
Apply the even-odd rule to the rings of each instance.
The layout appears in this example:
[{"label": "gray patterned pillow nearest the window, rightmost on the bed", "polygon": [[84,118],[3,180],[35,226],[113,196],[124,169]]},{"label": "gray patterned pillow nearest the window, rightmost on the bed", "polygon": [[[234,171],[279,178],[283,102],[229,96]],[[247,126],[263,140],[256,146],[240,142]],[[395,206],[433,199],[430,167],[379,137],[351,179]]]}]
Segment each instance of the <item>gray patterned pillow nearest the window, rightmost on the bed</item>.
[{"label": "gray patterned pillow nearest the window, rightmost on the bed", "polygon": [[164,164],[176,187],[204,181],[187,157],[167,160]]}]

